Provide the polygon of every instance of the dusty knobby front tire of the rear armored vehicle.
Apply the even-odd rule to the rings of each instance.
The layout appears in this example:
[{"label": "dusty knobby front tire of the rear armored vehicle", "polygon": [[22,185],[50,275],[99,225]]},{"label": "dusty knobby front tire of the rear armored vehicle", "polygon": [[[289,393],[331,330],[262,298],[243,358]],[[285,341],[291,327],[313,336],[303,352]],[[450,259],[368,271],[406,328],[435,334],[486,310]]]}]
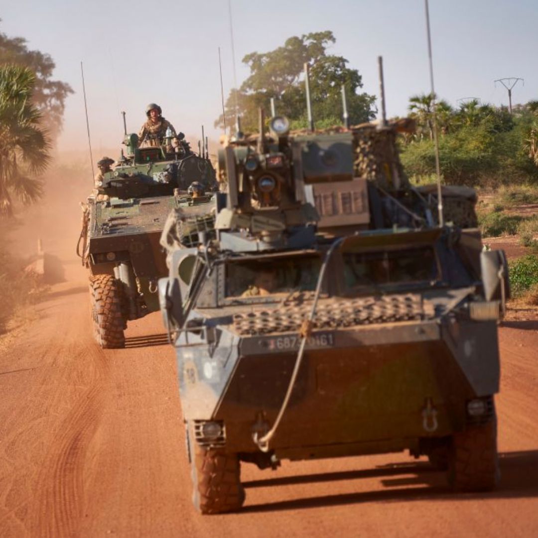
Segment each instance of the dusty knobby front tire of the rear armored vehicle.
[{"label": "dusty knobby front tire of the rear armored vehicle", "polygon": [[122,297],[116,279],[109,274],[90,277],[90,314],[94,337],[102,348],[124,348]]}]

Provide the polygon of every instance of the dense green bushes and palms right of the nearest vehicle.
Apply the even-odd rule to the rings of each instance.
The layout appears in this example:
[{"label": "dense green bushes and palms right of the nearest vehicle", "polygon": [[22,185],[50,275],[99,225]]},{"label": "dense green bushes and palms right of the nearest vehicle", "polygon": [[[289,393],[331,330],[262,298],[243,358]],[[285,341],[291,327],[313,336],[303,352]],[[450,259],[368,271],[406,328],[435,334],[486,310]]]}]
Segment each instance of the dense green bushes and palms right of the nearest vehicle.
[{"label": "dense green bushes and palms right of the nearest vehicle", "polygon": [[[410,116],[418,128],[414,137],[402,138],[401,160],[410,176],[435,174],[433,102],[430,95],[409,100]],[[473,100],[453,110],[437,103],[440,166],[448,185],[538,182],[529,142],[535,122],[532,107],[510,115],[505,107],[480,105]],[[538,125],[538,123],[536,123]],[[538,130],[536,130],[538,133]],[[537,134],[538,136],[538,134]],[[538,138],[536,138],[538,147]],[[534,146],[533,146],[534,147]]]}]

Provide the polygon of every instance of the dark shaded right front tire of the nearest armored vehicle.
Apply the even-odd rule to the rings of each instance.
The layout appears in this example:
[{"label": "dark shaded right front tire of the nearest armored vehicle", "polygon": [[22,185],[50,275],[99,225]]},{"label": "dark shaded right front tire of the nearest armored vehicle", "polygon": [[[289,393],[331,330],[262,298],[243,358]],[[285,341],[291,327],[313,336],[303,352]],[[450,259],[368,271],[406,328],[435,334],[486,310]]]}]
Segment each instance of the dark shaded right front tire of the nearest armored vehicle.
[{"label": "dark shaded right front tire of the nearest armored vehicle", "polygon": [[448,482],[455,491],[489,491],[499,483],[497,421],[452,435]]}]

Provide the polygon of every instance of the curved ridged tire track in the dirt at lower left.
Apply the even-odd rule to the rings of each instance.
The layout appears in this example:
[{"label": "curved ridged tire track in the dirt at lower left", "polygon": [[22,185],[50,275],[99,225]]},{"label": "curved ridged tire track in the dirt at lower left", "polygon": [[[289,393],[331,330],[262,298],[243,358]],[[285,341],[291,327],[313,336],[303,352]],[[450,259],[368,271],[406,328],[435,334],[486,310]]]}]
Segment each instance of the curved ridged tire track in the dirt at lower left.
[{"label": "curved ridged tire track in the dirt at lower left", "polygon": [[84,512],[84,463],[91,439],[103,411],[102,384],[107,374],[106,357],[95,345],[90,353],[79,353],[83,367],[92,359],[93,379],[66,416],[47,455],[36,491],[36,527],[41,536],[76,536]]}]

